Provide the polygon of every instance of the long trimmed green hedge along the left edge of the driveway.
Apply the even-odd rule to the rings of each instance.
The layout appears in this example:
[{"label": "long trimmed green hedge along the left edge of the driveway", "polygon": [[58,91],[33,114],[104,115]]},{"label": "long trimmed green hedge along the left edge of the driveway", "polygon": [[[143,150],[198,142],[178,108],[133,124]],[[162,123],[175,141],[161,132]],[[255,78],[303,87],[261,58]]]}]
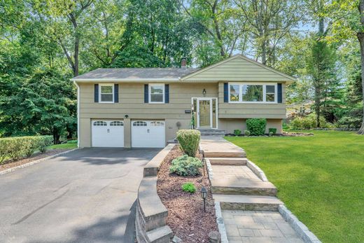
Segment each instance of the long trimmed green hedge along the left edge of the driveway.
[{"label": "long trimmed green hedge along the left edge of the driveway", "polygon": [[0,139],[0,164],[8,159],[19,160],[35,151],[44,153],[52,144],[52,136],[6,137]]}]

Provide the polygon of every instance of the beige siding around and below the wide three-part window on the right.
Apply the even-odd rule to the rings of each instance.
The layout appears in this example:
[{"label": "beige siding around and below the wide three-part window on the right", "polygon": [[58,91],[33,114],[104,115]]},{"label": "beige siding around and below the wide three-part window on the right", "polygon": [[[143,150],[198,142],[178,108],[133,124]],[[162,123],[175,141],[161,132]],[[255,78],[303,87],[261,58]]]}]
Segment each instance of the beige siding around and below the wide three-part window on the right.
[{"label": "beige siding around and below the wide three-part window on the right", "polygon": [[218,118],[286,118],[286,85],[282,83],[282,103],[241,104],[224,102],[224,82],[220,82],[218,83]]}]

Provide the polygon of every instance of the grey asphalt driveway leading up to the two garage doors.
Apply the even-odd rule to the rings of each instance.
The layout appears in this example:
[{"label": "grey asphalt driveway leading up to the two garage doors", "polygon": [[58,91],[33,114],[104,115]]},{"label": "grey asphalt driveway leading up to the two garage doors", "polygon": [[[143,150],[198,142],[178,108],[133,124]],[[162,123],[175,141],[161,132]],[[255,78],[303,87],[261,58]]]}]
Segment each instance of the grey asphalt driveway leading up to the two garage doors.
[{"label": "grey asphalt driveway leading up to the two garage doors", "polygon": [[133,242],[130,212],[158,151],[83,148],[0,175],[0,242]]}]

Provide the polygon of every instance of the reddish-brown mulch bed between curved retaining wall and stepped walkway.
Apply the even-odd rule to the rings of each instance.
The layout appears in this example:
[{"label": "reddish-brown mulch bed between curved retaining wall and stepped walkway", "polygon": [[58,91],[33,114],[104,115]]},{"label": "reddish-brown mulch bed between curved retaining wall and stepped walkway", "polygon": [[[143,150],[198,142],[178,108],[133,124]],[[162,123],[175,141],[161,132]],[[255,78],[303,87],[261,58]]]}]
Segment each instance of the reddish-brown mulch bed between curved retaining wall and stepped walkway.
[{"label": "reddish-brown mulch bed between curved retaining wall and stepped walkway", "polygon": [[[209,242],[208,234],[217,231],[214,200],[210,191],[207,171],[200,169],[200,176],[177,176],[169,174],[169,167],[174,158],[183,155],[179,145],[169,152],[158,172],[157,190],[162,203],[168,209],[167,225],[174,235],[183,242]],[[202,159],[202,155],[198,155]],[[196,186],[195,193],[182,190],[183,183],[192,182]],[[204,186],[207,191],[206,213],[200,190]]]}]

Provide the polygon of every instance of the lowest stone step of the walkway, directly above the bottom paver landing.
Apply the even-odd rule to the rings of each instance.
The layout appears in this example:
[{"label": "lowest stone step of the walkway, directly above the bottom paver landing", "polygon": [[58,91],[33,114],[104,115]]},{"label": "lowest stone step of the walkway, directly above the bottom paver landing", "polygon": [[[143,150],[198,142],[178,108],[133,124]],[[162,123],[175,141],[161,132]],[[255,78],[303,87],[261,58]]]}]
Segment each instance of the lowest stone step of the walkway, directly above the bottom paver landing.
[{"label": "lowest stone step of the walkway, directly above the bottom paver landing", "polygon": [[270,196],[214,194],[213,197],[225,210],[278,211],[279,204],[283,204],[278,198]]}]

